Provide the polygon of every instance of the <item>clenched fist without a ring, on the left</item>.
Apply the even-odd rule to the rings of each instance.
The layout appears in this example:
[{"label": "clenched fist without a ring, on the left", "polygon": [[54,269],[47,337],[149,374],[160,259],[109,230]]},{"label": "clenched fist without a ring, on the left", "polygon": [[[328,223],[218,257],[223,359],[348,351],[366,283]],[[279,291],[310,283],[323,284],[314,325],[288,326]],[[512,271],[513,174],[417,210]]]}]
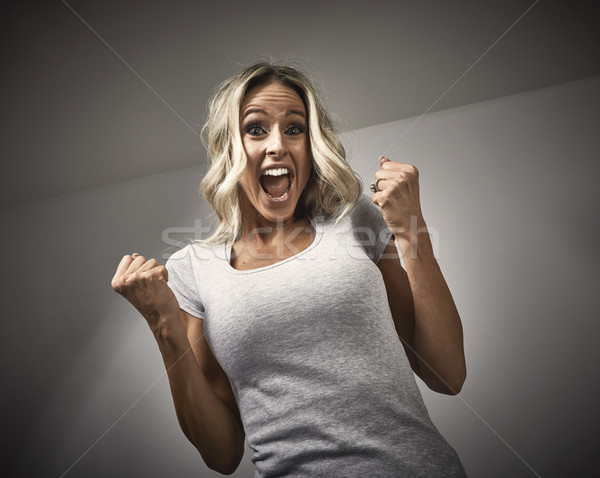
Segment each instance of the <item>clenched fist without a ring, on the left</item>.
[{"label": "clenched fist without a ring, on the left", "polygon": [[146,318],[155,331],[161,322],[179,317],[179,303],[167,284],[168,272],[155,259],[139,254],[121,259],[111,285]]}]

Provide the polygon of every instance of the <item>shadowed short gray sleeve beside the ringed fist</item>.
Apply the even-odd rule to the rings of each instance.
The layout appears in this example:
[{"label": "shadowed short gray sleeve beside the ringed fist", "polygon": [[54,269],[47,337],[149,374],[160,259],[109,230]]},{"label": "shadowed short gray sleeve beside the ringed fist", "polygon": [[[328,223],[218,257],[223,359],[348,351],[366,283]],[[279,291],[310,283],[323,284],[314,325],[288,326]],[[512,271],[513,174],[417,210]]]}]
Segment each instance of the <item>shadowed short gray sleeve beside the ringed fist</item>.
[{"label": "shadowed short gray sleeve beside the ringed fist", "polygon": [[363,194],[352,207],[350,214],[352,227],[355,233],[361,236],[360,242],[365,252],[377,264],[392,237],[381,210]]}]

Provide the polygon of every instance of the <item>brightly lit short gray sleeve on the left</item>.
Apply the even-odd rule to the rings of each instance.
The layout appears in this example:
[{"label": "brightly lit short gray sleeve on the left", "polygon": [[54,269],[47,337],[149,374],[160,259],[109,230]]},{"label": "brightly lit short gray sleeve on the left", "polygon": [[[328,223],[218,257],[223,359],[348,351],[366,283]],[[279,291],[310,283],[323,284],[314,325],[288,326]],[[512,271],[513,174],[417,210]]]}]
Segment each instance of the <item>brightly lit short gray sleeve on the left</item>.
[{"label": "brightly lit short gray sleeve on the left", "polygon": [[203,319],[204,305],[196,285],[190,248],[191,246],[184,247],[167,260],[165,267],[169,272],[168,284],[175,293],[179,307],[188,314]]}]

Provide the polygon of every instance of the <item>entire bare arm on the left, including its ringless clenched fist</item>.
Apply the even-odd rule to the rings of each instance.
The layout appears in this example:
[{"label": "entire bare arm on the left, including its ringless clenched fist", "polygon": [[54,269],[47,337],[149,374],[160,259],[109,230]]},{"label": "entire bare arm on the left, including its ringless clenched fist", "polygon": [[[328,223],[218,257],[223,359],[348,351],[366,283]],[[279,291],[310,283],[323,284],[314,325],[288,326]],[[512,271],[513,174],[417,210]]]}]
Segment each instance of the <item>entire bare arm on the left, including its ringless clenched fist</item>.
[{"label": "entire bare arm on the left, including its ringless clenched fist", "polygon": [[244,453],[244,431],[229,381],[212,356],[202,321],[179,309],[167,271],[154,260],[125,256],[113,289],[144,316],[169,377],[181,429],[206,465],[231,474]]}]

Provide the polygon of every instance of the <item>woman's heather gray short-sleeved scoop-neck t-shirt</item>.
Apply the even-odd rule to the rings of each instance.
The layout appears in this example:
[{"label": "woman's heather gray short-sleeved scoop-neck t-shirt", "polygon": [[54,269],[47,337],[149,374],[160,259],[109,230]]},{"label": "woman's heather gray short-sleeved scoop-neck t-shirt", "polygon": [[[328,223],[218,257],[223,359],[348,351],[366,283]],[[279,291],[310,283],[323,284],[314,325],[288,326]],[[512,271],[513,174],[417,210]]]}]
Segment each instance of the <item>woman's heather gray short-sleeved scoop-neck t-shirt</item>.
[{"label": "woman's heather gray short-sleeved scoop-neck t-shirt", "polygon": [[465,476],[431,422],[376,263],[391,234],[362,196],[313,243],[240,271],[231,244],[192,244],[169,285],[227,373],[256,477]]}]

